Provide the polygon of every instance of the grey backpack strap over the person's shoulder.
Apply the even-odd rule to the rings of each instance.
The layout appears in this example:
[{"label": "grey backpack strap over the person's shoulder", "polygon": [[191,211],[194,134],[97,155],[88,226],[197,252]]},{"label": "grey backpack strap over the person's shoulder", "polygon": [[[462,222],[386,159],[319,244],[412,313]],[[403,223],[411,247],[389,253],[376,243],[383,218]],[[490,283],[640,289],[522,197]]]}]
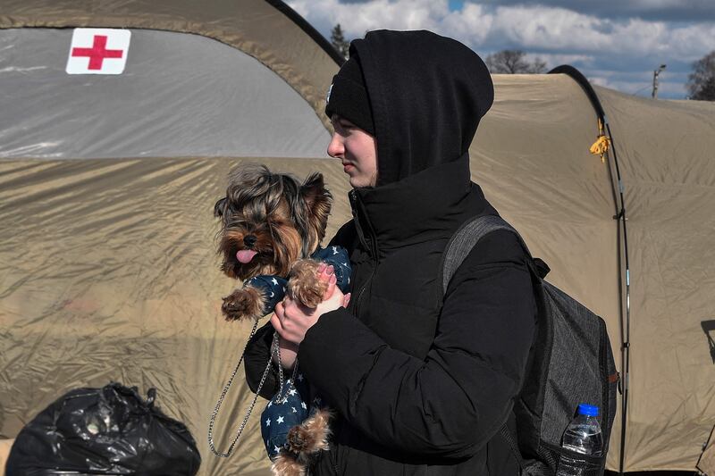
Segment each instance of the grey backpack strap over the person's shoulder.
[{"label": "grey backpack strap over the person's shoulder", "polygon": [[[528,263],[534,263],[534,258],[529,252],[529,248],[526,246],[524,239],[521,238],[517,230],[507,223],[503,218],[496,215],[483,215],[477,216],[471,220],[465,221],[462,226],[459,227],[457,232],[452,235],[450,242],[447,243],[444,255],[442,256],[442,296],[447,293],[447,287],[450,285],[450,280],[454,273],[457,271],[459,265],[461,265],[464,260],[475,247],[476,243],[484,238],[492,231],[496,230],[508,230],[514,233],[521,246],[524,248],[526,255],[529,257]],[[541,260],[538,260],[541,262]],[[542,262],[543,263],[543,262]],[[539,268],[540,263],[534,263],[536,268]],[[544,266],[546,263],[543,263]],[[548,269],[548,267],[547,267]],[[548,272],[548,271],[547,271]],[[541,272],[539,272],[541,275]]]}]

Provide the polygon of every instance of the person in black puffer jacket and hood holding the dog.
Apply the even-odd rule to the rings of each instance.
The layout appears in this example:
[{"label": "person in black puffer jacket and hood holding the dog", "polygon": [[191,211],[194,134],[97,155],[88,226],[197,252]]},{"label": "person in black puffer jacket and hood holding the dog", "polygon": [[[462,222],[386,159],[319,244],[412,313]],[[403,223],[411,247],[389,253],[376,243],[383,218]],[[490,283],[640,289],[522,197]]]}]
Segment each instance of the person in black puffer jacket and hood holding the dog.
[{"label": "person in black puffer jacket and hood holding the dog", "polygon": [[[332,244],[349,250],[351,298],[342,307],[335,289],[315,310],[286,299],[271,320],[337,411],[316,475],[518,474],[500,430],[515,430],[534,339],[525,252],[495,231],[444,296],[439,282],[460,224],[497,214],[471,181],[467,152],[492,100],[479,56],[428,31],[368,33],[333,79],[328,153],[349,175],[354,218]],[[249,346],[252,388],[273,327]]]}]

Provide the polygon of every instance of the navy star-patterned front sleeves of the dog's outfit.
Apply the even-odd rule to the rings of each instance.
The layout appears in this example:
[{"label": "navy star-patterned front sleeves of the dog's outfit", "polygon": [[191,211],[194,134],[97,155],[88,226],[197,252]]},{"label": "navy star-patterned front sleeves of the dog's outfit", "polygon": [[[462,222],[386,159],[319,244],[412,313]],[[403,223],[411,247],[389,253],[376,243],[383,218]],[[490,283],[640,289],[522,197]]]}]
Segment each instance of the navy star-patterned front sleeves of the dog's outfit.
[{"label": "navy star-patterned front sleeves of the dog's outfit", "polygon": [[[348,250],[342,246],[328,246],[327,248],[318,248],[310,257],[317,261],[332,264],[335,270],[335,278],[338,280],[338,288],[341,288],[343,293],[347,293],[350,285],[350,260]],[[253,286],[263,291],[265,296],[265,306],[263,314],[273,313],[275,305],[280,303],[285,297],[285,287],[288,280],[281,276],[272,276],[261,274],[244,281],[244,286]]]}]

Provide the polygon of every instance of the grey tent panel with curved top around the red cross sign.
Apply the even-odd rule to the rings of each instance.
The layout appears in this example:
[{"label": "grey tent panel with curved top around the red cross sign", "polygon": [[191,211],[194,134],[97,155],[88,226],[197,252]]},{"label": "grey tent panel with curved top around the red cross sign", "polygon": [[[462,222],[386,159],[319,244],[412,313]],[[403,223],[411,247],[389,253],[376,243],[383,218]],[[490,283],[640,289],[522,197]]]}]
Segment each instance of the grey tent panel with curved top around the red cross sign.
[{"label": "grey tent panel with curved top around the red cross sign", "polygon": [[65,72],[73,29],[0,29],[0,91],[13,91],[0,95],[0,158],[327,157],[314,109],[255,58],[130,32],[125,73],[108,76]]}]

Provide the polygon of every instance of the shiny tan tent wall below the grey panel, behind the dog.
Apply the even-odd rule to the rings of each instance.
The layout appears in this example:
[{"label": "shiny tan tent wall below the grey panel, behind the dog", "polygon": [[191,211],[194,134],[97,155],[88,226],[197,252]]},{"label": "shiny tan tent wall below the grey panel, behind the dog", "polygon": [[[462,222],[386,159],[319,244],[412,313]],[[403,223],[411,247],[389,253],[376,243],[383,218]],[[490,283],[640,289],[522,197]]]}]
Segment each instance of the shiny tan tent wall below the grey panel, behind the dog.
[{"label": "shiny tan tent wall below the grey panel, behind the dog", "polygon": [[[237,283],[219,270],[213,215],[243,162],[301,177],[322,170],[336,196],[347,193],[339,164],[320,159],[0,162],[3,437],[66,390],[117,380],[157,388],[164,412],[197,439],[201,474],[267,467],[261,403],[233,457],[214,457],[206,443],[250,327],[223,321],[221,297]],[[241,383],[219,414],[223,450],[252,395]]]}]

